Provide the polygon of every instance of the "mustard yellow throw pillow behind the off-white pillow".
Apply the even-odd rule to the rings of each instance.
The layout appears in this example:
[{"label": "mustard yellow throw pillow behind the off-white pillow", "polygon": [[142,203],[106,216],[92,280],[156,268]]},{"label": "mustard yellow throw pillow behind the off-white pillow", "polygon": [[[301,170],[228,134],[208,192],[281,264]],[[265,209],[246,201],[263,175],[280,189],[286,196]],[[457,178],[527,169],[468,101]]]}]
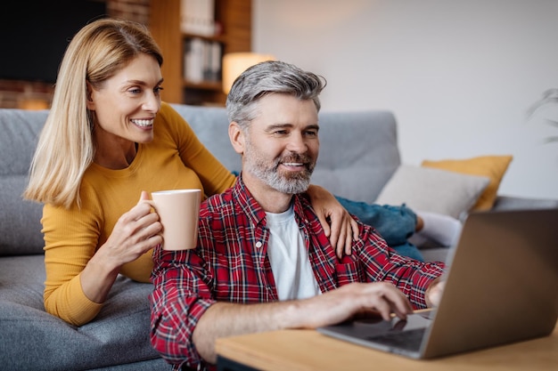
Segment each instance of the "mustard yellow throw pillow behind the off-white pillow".
[{"label": "mustard yellow throw pillow behind the off-white pillow", "polygon": [[489,210],[494,206],[496,194],[505,171],[513,156],[480,156],[465,159],[446,159],[439,161],[424,160],[423,166],[469,175],[486,176],[490,180],[488,187],[478,199],[472,210]]}]

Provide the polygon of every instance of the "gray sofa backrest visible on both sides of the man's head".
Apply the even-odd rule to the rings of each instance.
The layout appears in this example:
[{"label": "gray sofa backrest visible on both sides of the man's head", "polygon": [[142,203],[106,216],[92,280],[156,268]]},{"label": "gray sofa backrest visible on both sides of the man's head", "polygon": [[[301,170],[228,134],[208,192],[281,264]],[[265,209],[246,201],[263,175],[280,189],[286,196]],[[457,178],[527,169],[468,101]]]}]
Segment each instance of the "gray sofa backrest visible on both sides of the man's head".
[{"label": "gray sofa backrest visible on both sides of the man's head", "polygon": [[[173,104],[201,142],[231,171],[241,159],[228,138],[226,109]],[[397,123],[392,112],[322,111],[320,155],[312,183],[336,196],[373,202],[400,164]]]}]

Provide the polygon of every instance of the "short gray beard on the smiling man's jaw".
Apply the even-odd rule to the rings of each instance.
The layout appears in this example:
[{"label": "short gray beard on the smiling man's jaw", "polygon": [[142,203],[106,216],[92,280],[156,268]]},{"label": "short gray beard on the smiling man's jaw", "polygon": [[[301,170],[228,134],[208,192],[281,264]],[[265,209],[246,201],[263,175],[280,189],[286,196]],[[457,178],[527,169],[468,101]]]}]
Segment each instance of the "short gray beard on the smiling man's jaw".
[{"label": "short gray beard on the smiling man's jaw", "polygon": [[246,166],[246,172],[254,174],[254,176],[256,176],[260,181],[266,183],[269,187],[290,195],[302,193],[308,190],[310,177],[314,171],[313,166],[302,173],[292,173],[289,176],[282,176],[281,173],[277,171],[279,159],[275,160],[273,168],[269,168],[264,161],[259,159],[258,153],[254,151],[248,143],[246,146],[246,152],[248,153],[248,155],[244,154],[247,158],[246,163],[244,164]]}]

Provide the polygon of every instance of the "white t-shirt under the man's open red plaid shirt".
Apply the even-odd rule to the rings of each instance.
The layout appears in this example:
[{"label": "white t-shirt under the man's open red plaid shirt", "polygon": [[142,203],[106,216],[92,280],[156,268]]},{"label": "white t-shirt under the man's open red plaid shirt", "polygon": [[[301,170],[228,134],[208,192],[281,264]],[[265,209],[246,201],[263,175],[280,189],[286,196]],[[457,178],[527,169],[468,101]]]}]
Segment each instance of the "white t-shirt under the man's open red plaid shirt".
[{"label": "white t-shirt under the man's open red plaid shirt", "polygon": [[266,215],[270,231],[267,256],[279,300],[305,299],[320,294],[292,206],[284,213]]}]

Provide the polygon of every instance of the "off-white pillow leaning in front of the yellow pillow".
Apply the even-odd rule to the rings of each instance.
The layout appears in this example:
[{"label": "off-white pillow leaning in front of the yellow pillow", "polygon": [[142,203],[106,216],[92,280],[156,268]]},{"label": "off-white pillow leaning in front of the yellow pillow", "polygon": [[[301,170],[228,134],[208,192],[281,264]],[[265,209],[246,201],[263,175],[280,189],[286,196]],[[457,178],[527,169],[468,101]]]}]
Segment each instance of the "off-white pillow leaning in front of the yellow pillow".
[{"label": "off-white pillow leaning in front of the yellow pillow", "polygon": [[488,187],[486,176],[455,173],[436,168],[399,165],[375,203],[406,204],[416,211],[446,214],[463,219]]}]

